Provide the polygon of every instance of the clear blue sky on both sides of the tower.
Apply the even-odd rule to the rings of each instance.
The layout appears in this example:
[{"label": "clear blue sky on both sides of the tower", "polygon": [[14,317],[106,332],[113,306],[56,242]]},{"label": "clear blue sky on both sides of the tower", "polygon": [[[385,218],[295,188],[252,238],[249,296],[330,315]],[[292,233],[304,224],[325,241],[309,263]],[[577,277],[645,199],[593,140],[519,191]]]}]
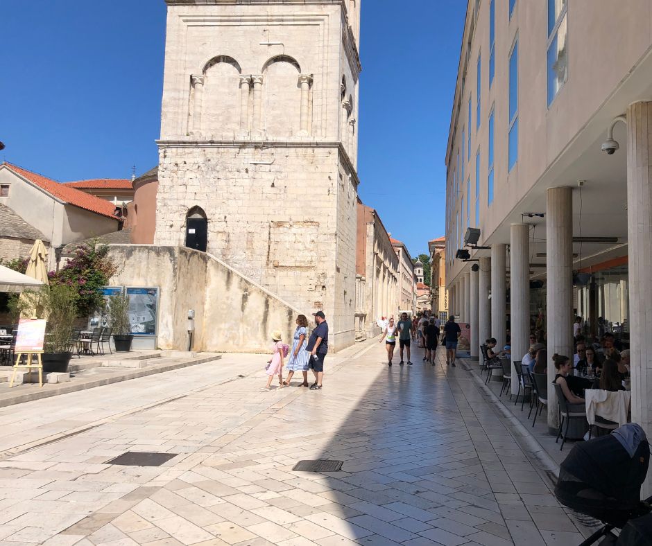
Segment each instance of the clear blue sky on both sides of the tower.
[{"label": "clear blue sky on both sides of the tower", "polygon": [[[163,0],[0,0],[0,159],[51,178],[157,163]],[[359,193],[413,256],[444,234],[465,0],[363,0]]]}]

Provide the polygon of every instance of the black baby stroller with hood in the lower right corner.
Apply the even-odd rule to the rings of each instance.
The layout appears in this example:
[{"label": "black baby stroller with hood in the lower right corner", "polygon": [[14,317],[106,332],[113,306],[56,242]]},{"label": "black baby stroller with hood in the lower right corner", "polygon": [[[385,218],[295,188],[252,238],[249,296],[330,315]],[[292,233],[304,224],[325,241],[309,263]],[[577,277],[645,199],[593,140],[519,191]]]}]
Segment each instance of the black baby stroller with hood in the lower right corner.
[{"label": "black baby stroller with hood in the lower right corner", "polygon": [[561,504],[604,524],[580,546],[604,536],[615,538],[612,529],[652,513],[652,497],[640,500],[649,462],[649,443],[635,423],[573,447],[561,464],[555,496]]}]

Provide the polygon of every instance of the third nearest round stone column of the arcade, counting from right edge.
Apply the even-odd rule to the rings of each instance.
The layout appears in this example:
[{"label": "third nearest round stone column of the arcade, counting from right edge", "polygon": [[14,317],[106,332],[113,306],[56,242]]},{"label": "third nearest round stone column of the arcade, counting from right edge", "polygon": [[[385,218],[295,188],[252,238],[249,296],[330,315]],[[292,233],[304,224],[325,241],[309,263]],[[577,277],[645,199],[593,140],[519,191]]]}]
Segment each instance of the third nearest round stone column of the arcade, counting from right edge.
[{"label": "third nearest round stone column of the arcade, counting from right edge", "polygon": [[[527,224],[512,224],[510,228],[509,270],[512,334],[512,362],[521,360],[529,349],[530,334],[530,229]],[[520,364],[519,364],[520,365]],[[516,372],[512,369],[512,377]],[[512,381],[512,394],[518,383]]]}]

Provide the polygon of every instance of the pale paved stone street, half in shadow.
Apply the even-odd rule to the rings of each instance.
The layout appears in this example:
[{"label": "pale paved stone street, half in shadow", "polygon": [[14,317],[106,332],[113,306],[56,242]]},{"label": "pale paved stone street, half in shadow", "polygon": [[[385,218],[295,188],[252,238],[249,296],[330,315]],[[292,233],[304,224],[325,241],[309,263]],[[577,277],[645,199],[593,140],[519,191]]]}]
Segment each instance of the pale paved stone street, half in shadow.
[{"label": "pale paved stone street, half in shadow", "polygon": [[[581,542],[472,372],[415,352],[350,348],[322,391],[260,391],[266,358],[225,355],[3,408],[0,545]],[[128,450],[179,455],[106,464]]]}]

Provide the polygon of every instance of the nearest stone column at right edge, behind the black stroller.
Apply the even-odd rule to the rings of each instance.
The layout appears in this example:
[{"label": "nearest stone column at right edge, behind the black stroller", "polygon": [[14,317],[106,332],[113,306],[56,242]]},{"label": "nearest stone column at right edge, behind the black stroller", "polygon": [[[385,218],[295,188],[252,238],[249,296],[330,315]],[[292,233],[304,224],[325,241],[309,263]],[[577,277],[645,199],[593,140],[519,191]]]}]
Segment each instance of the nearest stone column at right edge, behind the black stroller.
[{"label": "nearest stone column at right edge, behind the black stroller", "polygon": [[[652,103],[627,108],[627,243],[629,256],[632,421],[652,437]],[[652,494],[652,475],[643,495]]]}]

